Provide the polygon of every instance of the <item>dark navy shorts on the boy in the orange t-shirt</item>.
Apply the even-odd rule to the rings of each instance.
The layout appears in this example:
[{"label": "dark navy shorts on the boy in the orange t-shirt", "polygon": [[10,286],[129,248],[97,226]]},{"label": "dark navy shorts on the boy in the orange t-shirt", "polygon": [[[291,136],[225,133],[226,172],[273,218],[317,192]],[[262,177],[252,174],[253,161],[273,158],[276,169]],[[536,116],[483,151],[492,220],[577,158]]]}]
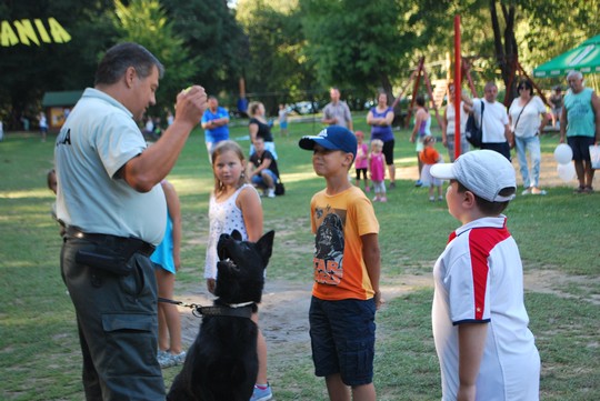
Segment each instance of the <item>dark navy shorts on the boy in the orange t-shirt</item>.
[{"label": "dark navy shorts on the boy in the orange t-shirt", "polygon": [[314,374],[340,373],[346,385],[373,381],[374,300],[323,301],[312,297],[310,339]]}]

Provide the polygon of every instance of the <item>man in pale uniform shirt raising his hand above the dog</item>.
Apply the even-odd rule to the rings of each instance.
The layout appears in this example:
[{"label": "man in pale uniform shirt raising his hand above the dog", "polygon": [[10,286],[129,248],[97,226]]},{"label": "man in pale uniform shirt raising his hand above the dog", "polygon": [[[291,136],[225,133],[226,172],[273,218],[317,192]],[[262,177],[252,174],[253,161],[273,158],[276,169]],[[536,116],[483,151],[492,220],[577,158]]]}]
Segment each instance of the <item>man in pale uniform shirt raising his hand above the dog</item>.
[{"label": "man in pale uniform shirt raising his hand above the dog", "polygon": [[181,91],[173,123],[148,148],[136,120],[156,103],[162,73],[143,47],[112,47],[57,138],[57,215],[67,225],[61,273],[77,314],[88,401],[164,400],[148,257],[167,225],[160,181],[207,96],[198,86]]}]

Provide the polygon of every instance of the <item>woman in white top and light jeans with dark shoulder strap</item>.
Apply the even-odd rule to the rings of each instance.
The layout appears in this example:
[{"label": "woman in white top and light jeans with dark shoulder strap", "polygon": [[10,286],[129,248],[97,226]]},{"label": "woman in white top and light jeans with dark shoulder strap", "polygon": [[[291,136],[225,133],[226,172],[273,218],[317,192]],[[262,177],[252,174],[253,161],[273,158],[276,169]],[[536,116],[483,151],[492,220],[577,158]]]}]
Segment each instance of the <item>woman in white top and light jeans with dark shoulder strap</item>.
[{"label": "woman in white top and light jeans with dark shoulder strap", "polygon": [[[546,191],[540,189],[540,132],[543,132],[549,116],[542,100],[533,96],[531,81],[521,81],[517,90],[519,97],[510,106],[509,121],[514,133],[517,159],[523,179],[524,190],[522,194],[546,194]],[[526,152],[529,152],[531,158],[531,171]]]}]

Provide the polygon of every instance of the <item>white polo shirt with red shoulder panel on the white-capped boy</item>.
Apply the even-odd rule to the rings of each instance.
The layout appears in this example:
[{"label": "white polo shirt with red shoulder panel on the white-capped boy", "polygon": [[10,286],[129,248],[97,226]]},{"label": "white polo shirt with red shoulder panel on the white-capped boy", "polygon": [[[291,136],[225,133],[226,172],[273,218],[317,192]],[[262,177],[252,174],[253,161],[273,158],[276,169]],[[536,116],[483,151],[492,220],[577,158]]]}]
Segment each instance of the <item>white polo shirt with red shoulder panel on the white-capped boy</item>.
[{"label": "white polo shirt with red shoulder panel on the white-capped boy", "polygon": [[433,268],[432,327],[442,400],[459,388],[458,327],[488,324],[477,400],[539,400],[540,357],[523,304],[519,248],[507,218],[482,218],[452,232]]}]

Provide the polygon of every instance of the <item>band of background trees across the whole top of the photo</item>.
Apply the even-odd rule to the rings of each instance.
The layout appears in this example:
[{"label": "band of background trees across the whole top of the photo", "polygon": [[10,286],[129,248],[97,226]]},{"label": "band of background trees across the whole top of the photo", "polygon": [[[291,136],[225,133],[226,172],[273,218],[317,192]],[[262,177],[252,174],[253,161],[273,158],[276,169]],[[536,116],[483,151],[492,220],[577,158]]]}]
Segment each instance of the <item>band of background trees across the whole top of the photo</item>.
[{"label": "band of background trees across the whole top of the photo", "polygon": [[[481,89],[508,87],[512,60],[526,71],[598,34],[600,0],[38,0],[0,3],[0,119],[18,129],[47,91],[92,86],[99,57],[134,40],[167,67],[159,108],[191,82],[224,106],[238,82],[273,110],[277,102],[326,98],[330,86],[348,98],[394,93],[420,57],[431,78],[446,78],[453,17],[461,16],[462,53]],[[56,19],[70,40],[9,38],[24,20],[50,30]],[[31,24],[31,30],[37,22]],[[40,33],[41,34],[41,33]],[[10,39],[10,40],[9,40]],[[26,38],[27,39],[27,38]],[[546,80],[549,88],[560,79]],[[511,96],[510,88],[508,96]],[[358,102],[356,103],[358,106]]]}]

